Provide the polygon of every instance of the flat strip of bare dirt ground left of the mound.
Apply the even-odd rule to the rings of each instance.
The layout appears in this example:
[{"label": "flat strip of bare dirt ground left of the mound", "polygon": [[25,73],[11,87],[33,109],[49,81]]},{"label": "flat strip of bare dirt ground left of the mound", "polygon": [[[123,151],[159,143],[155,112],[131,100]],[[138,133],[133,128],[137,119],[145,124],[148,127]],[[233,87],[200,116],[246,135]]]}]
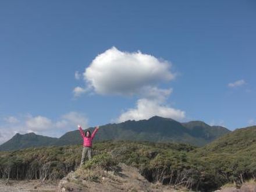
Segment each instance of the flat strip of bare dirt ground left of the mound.
[{"label": "flat strip of bare dirt ground left of the mound", "polygon": [[10,180],[9,184],[5,184],[5,180],[0,179],[1,192],[30,192],[30,191],[56,191],[58,182],[47,182],[41,184],[39,180]]}]

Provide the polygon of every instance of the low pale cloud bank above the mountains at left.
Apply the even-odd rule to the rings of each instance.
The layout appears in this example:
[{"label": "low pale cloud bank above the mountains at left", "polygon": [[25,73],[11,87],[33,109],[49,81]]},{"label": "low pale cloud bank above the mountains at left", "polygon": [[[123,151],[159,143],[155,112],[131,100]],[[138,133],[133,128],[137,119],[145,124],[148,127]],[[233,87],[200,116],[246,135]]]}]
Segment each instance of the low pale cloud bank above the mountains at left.
[{"label": "low pale cloud bank above the mountains at left", "polygon": [[0,144],[9,140],[16,133],[42,134],[51,137],[60,137],[67,131],[75,130],[80,124],[83,128],[88,126],[86,115],[79,112],[69,112],[57,120],[45,116],[10,116],[0,119]]}]

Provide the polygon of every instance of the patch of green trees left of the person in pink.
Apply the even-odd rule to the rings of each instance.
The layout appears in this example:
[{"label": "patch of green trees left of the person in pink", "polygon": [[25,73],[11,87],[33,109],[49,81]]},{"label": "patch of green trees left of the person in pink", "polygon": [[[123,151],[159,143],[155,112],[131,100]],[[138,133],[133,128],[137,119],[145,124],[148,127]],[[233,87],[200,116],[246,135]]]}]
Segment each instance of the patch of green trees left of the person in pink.
[{"label": "patch of green trees left of the person in pink", "polygon": [[61,179],[79,165],[78,146],[28,148],[0,153],[0,177],[16,180]]}]

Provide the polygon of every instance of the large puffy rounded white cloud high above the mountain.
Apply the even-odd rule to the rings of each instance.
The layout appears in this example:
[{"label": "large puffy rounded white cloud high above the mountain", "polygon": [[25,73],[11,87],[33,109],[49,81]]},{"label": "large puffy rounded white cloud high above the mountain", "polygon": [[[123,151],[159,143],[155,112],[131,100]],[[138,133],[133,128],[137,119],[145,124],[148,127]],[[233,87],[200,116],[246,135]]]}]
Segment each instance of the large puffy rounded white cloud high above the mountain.
[{"label": "large puffy rounded white cloud high above the mountain", "polygon": [[171,64],[141,52],[115,47],[98,55],[83,73],[87,87],[102,95],[134,95],[141,88],[172,80]]}]

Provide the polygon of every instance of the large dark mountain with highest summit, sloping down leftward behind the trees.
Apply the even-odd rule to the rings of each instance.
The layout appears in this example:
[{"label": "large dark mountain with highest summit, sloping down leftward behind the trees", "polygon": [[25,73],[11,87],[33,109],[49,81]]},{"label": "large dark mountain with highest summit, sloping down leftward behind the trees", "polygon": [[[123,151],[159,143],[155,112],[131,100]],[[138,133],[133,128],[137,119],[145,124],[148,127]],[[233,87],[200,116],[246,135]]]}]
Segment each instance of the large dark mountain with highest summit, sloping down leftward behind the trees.
[{"label": "large dark mountain with highest summit, sloping down leftward behind the trees", "polygon": [[[93,129],[90,128],[89,130],[93,131]],[[225,127],[211,127],[204,122],[179,123],[173,119],[154,116],[148,120],[128,120],[123,123],[101,126],[94,140],[175,142],[202,146],[228,132],[230,130]],[[21,135],[19,136],[21,137]],[[36,141],[34,139],[31,142],[29,140],[30,138],[20,139],[21,144],[13,145],[12,148],[9,147],[9,143],[5,143],[0,145],[0,150],[12,150],[40,145],[61,146],[83,143],[78,130],[69,131],[62,137],[58,139],[54,138],[51,141],[45,142],[45,140],[41,141],[38,138],[37,145],[35,145]],[[17,140],[15,143],[17,143]]]}]

